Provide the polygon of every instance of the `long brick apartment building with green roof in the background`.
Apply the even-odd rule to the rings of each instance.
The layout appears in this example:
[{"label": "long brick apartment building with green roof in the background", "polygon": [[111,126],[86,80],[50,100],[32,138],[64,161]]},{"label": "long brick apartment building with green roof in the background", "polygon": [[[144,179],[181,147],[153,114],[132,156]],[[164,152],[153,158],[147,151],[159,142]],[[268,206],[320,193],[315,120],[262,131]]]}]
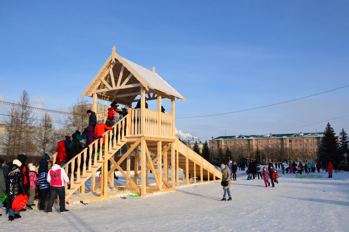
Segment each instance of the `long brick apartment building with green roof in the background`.
[{"label": "long brick apartment building with green roof in the background", "polygon": [[257,149],[269,162],[313,162],[317,157],[323,132],[297,134],[220,136],[209,141],[212,151],[231,149],[243,156],[254,157]]}]

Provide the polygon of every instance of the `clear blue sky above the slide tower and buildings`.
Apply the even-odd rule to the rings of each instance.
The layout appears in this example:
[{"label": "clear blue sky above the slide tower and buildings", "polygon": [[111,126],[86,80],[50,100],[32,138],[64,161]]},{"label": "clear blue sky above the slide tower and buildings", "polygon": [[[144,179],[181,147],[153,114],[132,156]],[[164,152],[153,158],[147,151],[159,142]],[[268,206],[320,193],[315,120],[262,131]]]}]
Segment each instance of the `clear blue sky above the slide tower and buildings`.
[{"label": "clear blue sky above the slide tower and buildings", "polygon": [[[15,102],[25,89],[33,105],[49,109],[65,110],[112,46],[155,66],[187,99],[176,101],[176,117],[245,110],[349,83],[347,1],[3,1],[0,20],[0,100]],[[348,90],[177,119],[176,127],[201,140],[319,132],[326,122],[288,129],[349,114]],[[349,116],[330,123],[337,134],[349,131]]]}]

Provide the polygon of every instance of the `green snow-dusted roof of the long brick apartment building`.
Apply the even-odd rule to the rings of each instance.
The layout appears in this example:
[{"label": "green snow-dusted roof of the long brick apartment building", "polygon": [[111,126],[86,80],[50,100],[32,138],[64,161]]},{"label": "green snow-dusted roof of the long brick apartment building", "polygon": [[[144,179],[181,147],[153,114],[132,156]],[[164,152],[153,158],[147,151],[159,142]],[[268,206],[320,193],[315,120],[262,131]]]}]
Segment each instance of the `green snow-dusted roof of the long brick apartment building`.
[{"label": "green snow-dusted roof of the long brick apartment building", "polygon": [[231,139],[265,139],[265,138],[294,138],[294,137],[322,137],[324,132],[317,133],[295,133],[295,134],[268,134],[268,135],[231,135],[219,136],[213,140],[231,140]]}]

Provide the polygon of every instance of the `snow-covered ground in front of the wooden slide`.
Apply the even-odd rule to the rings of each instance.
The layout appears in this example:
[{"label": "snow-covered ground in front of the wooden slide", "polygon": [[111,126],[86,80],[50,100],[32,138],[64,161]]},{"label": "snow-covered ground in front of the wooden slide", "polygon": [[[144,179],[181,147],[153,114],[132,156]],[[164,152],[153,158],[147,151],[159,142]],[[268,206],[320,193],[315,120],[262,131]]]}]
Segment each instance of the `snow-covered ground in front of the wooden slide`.
[{"label": "snow-covered ground in front of the wooden slide", "polygon": [[265,188],[238,171],[233,201],[225,202],[220,182],[212,182],[144,198],[77,202],[68,214],[27,210],[13,222],[1,210],[1,231],[349,231],[349,173],[320,174],[299,179],[279,172],[279,184]]}]

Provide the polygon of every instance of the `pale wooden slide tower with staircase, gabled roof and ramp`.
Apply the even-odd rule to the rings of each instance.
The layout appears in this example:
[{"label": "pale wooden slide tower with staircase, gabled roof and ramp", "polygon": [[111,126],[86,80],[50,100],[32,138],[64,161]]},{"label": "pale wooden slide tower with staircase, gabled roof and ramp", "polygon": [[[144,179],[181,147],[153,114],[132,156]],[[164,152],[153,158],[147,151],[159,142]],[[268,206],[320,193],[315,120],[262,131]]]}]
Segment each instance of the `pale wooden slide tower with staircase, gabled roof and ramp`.
[{"label": "pale wooden slide tower with staircase, gabled roof and ramp", "polygon": [[[94,112],[97,111],[97,99],[102,99],[128,106],[128,114],[112,130],[104,133],[104,146],[103,139],[95,140],[89,145],[89,149],[85,148],[63,166],[67,173],[74,168],[77,170],[76,178],[74,175],[70,177],[71,189],[66,190],[66,199],[75,192],[85,193],[85,184],[89,179],[90,191],[99,192],[99,199],[105,199],[109,196],[109,188],[146,196],[175,190],[180,185],[217,181],[222,178],[219,170],[176,137],[174,100],[185,98],[155,72],[155,67],[150,71],[122,58],[113,47],[110,57],[82,92],[81,97],[83,96],[93,98]],[[161,101],[164,98],[171,100],[170,113],[161,112]],[[146,101],[149,100],[157,100],[157,110],[146,108]],[[132,109],[131,105],[138,102],[140,108]],[[96,114],[97,120],[106,120],[105,112]],[[97,147],[98,143],[100,146],[97,157],[97,149],[92,147]],[[127,151],[120,159],[114,160],[116,152],[125,144]],[[95,152],[94,156],[92,152]],[[130,175],[131,159],[134,159],[134,176]],[[111,163],[109,171],[108,160]],[[122,170],[120,164],[125,160],[127,168]],[[157,165],[154,165],[156,161]],[[71,170],[68,170],[69,163]],[[171,163],[171,168],[168,163]],[[80,168],[76,169],[75,165]],[[191,173],[194,178],[186,175],[186,178],[179,179],[179,169]],[[95,180],[97,170],[101,170],[101,180],[98,183]],[[116,170],[126,178],[125,186],[114,186],[113,172]],[[149,185],[148,175],[154,175],[156,185]]]}]

